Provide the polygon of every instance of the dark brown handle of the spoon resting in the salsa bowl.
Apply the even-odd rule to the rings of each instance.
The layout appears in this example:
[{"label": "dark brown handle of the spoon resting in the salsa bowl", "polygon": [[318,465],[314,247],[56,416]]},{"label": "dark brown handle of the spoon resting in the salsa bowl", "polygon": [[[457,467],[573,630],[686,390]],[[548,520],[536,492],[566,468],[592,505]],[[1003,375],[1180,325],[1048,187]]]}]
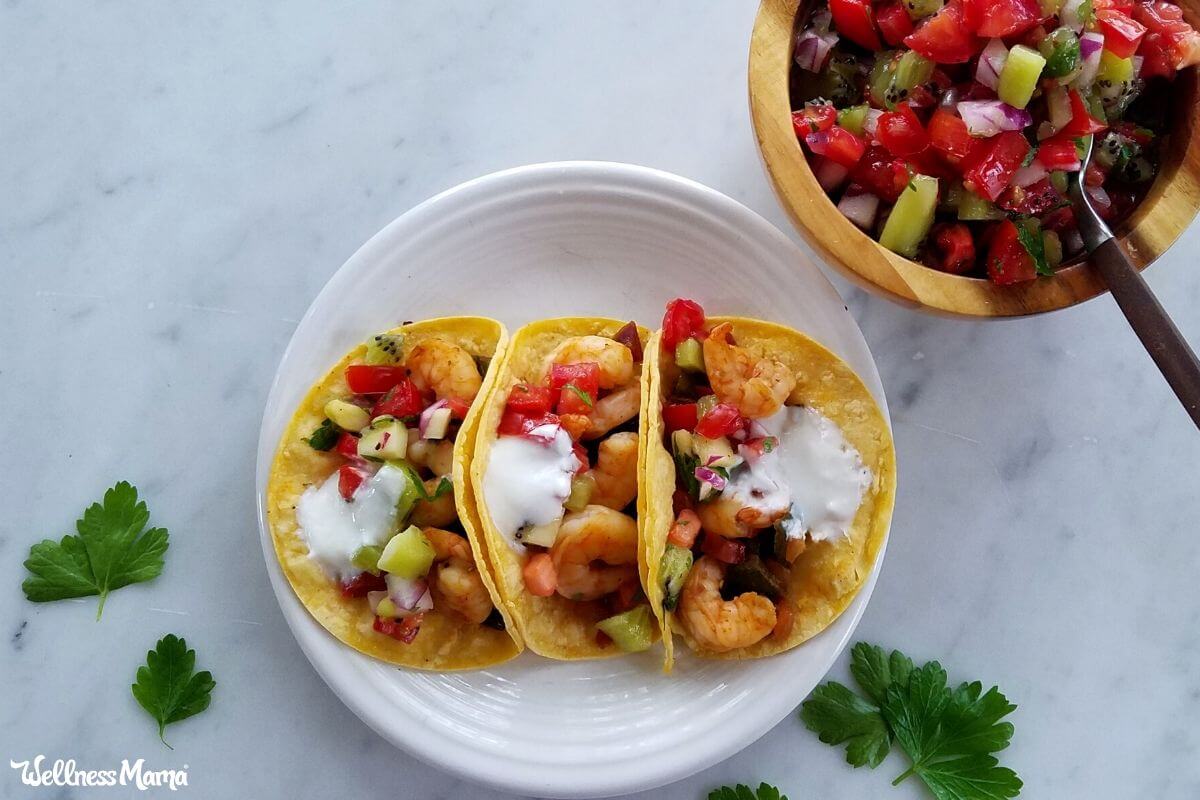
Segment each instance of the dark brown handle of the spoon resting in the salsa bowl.
[{"label": "dark brown handle of the spoon resting in the salsa bowl", "polygon": [[1109,284],[1129,326],[1163,372],[1192,421],[1200,427],[1200,361],[1180,329],[1175,327],[1116,239],[1109,239],[1092,251],[1088,260]]}]

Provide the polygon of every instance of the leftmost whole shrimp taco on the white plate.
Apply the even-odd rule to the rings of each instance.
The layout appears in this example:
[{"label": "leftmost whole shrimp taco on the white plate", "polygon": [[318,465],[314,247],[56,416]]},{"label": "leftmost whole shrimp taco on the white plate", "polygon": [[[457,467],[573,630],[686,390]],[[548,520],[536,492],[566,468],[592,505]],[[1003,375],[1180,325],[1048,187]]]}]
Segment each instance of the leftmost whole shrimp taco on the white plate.
[{"label": "leftmost whole shrimp taco on the white plate", "polygon": [[268,483],[276,555],[313,618],[361,652],[450,670],[521,651],[467,491],[506,338],[478,317],[374,336],[308,391],[283,434]]}]

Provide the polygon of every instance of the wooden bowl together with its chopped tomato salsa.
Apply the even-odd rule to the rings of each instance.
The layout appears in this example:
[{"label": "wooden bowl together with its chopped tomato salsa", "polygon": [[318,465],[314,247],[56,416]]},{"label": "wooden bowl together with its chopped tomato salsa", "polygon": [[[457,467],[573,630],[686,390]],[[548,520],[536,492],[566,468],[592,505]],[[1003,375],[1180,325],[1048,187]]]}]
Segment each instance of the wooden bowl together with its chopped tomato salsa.
[{"label": "wooden bowl together with its chopped tomato salsa", "polygon": [[764,0],[750,59],[760,145],[834,265],[972,315],[1099,294],[1066,197],[1086,136],[1082,182],[1139,266],[1186,228],[1200,35],[1163,0],[1055,2]]}]

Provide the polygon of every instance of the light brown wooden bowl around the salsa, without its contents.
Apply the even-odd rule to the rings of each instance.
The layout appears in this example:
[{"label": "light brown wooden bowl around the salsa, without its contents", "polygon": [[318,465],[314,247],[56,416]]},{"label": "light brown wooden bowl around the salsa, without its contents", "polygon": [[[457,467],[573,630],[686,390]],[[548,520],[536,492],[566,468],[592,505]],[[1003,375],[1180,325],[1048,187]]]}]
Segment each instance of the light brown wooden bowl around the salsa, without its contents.
[{"label": "light brown wooden bowl around the salsa, without its contents", "polygon": [[[1193,25],[1200,0],[1183,0]],[[935,313],[1018,317],[1066,308],[1105,291],[1086,261],[1054,277],[998,287],[983,278],[940,272],[880,246],[838,211],[809,168],[792,130],[788,76],[802,0],[762,0],[750,40],[750,115],[767,174],[804,237],[827,261],[870,291]],[[1141,205],[1115,233],[1134,264],[1145,267],[1183,233],[1200,205],[1200,96],[1196,70],[1175,79],[1177,106],[1163,166]]]}]

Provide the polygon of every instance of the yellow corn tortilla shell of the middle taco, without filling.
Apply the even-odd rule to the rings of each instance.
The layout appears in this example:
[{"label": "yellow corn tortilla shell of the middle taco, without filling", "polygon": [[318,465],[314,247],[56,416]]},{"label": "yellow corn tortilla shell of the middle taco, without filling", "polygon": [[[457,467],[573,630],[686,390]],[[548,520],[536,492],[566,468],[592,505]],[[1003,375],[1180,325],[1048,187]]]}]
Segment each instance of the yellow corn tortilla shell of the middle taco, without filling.
[{"label": "yellow corn tortilla shell of the middle taco, without filling", "polygon": [[[479,438],[470,465],[470,482],[479,499],[480,522],[487,542],[488,558],[496,575],[496,587],[517,625],[518,636],[534,652],[548,658],[572,661],[578,658],[605,658],[624,655],[617,646],[600,646],[596,643],[595,624],[608,612],[599,601],[581,602],[559,595],[538,597],[524,587],[522,567],[524,559],[514,552],[499,529],[492,522],[484,500],[484,474],[492,445],[497,439],[497,426],[508,403],[509,390],[518,383],[540,383],[546,356],[559,342],[575,336],[613,336],[626,323],[604,318],[564,318],[530,323],[512,335],[506,355],[499,365],[492,393],[484,405],[479,421]],[[638,329],[643,344],[649,331]],[[644,395],[644,365],[643,365]],[[638,438],[638,456],[642,439]],[[638,459],[641,461],[641,458]],[[644,541],[646,517],[642,513],[641,476],[638,480],[638,542]],[[648,566],[638,552],[638,573],[648,575]]]}]

